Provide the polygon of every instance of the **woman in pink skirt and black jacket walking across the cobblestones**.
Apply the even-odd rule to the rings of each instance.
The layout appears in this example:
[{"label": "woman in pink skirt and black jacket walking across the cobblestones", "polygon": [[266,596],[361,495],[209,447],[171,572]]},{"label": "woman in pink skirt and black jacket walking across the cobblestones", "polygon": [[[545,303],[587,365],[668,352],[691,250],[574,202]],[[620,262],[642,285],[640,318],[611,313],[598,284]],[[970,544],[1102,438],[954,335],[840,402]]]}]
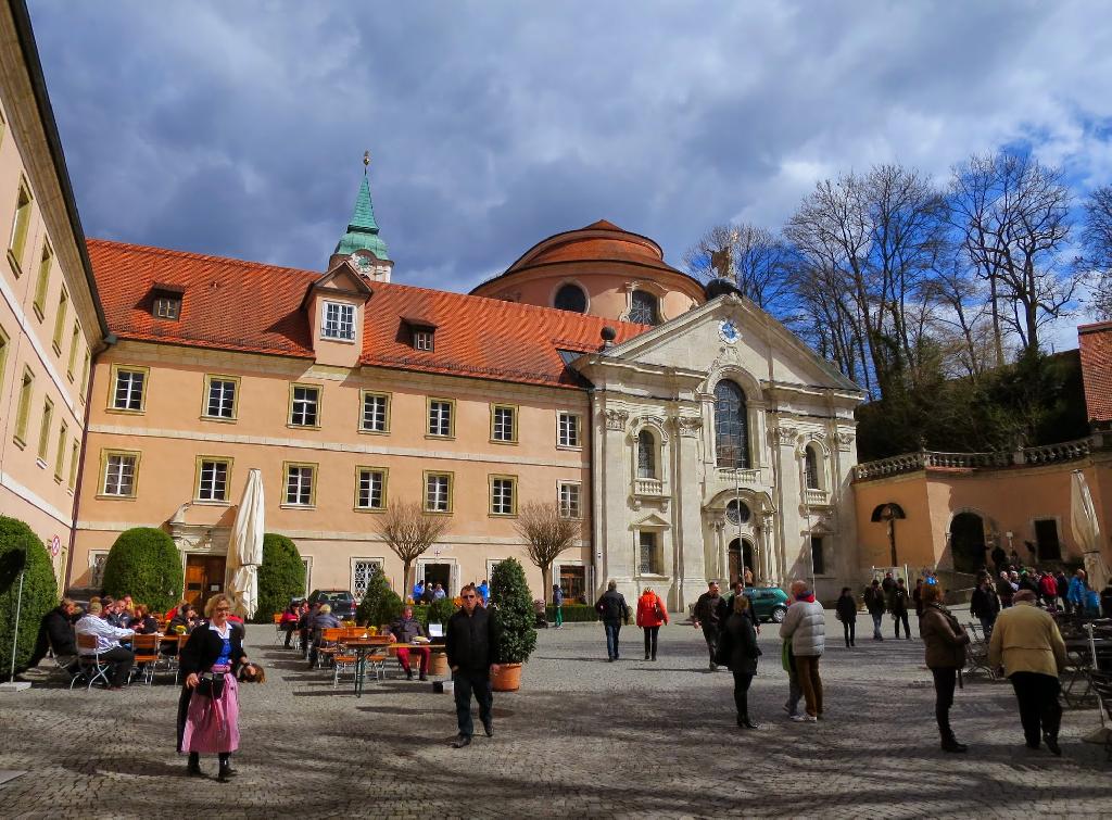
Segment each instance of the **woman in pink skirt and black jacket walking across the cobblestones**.
[{"label": "woman in pink skirt and black jacket walking across the cobblestones", "polygon": [[189,753],[189,774],[203,777],[201,754],[220,757],[220,782],[236,773],[231,753],[239,748],[239,690],[236,671],[247,663],[244,629],[228,620],[231,600],[214,595],[181,650],[186,676],[178,701],[178,751]]}]

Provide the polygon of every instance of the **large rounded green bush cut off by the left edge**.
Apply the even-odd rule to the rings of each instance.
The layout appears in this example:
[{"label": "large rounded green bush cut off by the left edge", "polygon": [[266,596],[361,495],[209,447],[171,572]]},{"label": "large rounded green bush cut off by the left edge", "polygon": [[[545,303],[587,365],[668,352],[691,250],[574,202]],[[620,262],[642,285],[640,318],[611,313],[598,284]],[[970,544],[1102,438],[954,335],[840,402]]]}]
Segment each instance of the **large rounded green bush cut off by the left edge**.
[{"label": "large rounded green bush cut off by the left edge", "polygon": [[30,665],[43,616],[58,605],[58,582],[50,555],[31,527],[0,515],[0,681],[11,672],[11,644],[16,626],[16,599],[23,573],[19,606],[16,673]]}]

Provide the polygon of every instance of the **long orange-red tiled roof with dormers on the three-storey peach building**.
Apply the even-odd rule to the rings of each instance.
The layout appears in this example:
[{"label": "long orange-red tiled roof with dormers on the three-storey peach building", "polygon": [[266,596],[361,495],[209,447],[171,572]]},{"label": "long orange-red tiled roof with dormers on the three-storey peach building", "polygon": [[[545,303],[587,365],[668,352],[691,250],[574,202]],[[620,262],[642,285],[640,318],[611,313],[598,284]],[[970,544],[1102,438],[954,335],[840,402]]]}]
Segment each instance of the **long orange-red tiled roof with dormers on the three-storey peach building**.
[{"label": "long orange-red tiled roof with dormers on the three-storey peach building", "polygon": [[[89,256],[109,329],[123,339],[312,358],[300,309],[322,274],[93,239]],[[181,317],[151,315],[156,287],[185,288]],[[644,325],[481,296],[371,283],[361,364],[527,384],[578,386],[559,349],[596,350],[610,325],[615,344]],[[435,349],[415,350],[404,317],[436,326]]]}]

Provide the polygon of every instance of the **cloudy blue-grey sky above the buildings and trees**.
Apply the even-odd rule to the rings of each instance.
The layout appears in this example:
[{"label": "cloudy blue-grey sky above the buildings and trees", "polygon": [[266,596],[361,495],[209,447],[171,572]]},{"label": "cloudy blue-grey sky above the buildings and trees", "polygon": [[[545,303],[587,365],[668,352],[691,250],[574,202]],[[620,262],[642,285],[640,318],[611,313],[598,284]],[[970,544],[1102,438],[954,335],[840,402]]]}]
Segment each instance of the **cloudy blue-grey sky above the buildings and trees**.
[{"label": "cloudy blue-grey sky above the buildings and trees", "polygon": [[1024,145],[1112,181],[1098,2],[30,8],[93,237],[319,269],[365,149],[396,280],[450,289],[599,218],[678,265],[881,161]]}]

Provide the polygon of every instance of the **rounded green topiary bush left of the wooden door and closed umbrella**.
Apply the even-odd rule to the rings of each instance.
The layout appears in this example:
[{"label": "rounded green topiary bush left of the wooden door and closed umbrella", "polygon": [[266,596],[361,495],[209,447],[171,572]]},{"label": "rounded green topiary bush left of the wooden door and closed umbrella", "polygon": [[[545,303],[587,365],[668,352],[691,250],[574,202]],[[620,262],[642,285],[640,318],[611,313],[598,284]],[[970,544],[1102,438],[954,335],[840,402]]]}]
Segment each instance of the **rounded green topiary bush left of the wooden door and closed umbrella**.
[{"label": "rounded green topiary bush left of the wooden door and closed umbrella", "polygon": [[161,530],[137,526],[120,533],[105,561],[105,594],[131,595],[152,612],[166,612],[181,597],[181,555]]}]

